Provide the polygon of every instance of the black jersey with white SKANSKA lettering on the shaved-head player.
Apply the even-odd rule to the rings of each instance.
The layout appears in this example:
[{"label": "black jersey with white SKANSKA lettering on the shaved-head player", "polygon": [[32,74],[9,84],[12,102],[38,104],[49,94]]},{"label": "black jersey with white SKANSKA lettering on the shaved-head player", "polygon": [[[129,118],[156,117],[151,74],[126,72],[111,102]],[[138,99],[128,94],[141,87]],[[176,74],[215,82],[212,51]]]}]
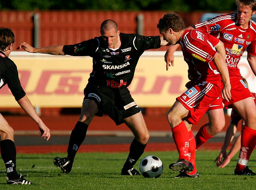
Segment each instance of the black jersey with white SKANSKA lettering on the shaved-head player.
[{"label": "black jersey with white SKANSKA lettering on the shaved-head player", "polygon": [[65,55],[90,56],[93,71],[89,84],[102,87],[122,88],[131,84],[135,67],[145,50],[160,47],[160,36],[142,36],[120,33],[121,46],[111,50],[101,36],[74,45],[64,45]]}]

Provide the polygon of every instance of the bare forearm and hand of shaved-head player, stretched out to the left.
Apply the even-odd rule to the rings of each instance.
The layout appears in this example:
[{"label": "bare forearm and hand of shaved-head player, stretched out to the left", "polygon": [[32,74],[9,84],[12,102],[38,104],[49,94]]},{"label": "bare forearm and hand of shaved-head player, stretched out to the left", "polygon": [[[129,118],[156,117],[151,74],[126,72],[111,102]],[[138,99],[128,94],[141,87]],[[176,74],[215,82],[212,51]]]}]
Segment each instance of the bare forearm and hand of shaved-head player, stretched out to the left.
[{"label": "bare forearm and hand of shaved-head player, stretched out to the left", "polygon": [[34,48],[25,41],[19,44],[18,49],[24,49],[30,53],[40,53],[40,54],[50,54],[50,55],[65,55],[62,51],[63,45],[52,45],[49,47],[42,47],[42,48]]}]

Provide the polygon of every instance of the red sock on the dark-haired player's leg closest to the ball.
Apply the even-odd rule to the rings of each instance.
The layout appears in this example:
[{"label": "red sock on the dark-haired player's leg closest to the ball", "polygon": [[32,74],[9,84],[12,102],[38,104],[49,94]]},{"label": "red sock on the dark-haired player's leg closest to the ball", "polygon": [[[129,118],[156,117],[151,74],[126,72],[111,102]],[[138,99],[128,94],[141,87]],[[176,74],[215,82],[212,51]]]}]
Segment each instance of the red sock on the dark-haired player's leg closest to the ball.
[{"label": "red sock on the dark-haired player's leg closest to the ball", "polygon": [[185,123],[182,121],[176,127],[172,128],[173,140],[176,144],[179,159],[186,159],[189,161],[188,157],[188,146],[189,146],[189,138],[188,138],[188,129]]}]

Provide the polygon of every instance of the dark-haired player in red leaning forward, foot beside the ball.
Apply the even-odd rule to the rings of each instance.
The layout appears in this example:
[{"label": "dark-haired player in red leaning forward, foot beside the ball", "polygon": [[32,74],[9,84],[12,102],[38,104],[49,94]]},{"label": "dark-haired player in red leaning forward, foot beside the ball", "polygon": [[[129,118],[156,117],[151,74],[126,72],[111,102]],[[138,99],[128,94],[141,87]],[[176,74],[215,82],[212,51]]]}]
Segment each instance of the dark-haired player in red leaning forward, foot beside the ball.
[{"label": "dark-haired player in red leaning forward, foot beside the ball", "polygon": [[191,127],[199,122],[219,94],[227,102],[230,99],[225,49],[219,39],[200,30],[185,29],[183,20],[176,13],[166,13],[157,27],[164,40],[172,45],[181,45],[190,80],[186,84],[188,90],[176,99],[167,114],[179,153],[178,161],[170,164],[169,168],[184,170],[176,178],[198,178],[195,158],[191,159],[188,154],[188,148],[195,151],[196,146]]}]

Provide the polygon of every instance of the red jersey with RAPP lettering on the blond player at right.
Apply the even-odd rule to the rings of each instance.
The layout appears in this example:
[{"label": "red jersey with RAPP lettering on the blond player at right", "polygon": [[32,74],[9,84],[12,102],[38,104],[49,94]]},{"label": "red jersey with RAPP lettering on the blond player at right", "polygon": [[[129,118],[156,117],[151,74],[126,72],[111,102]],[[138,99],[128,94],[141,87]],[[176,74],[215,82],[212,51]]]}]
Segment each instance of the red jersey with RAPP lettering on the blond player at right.
[{"label": "red jersey with RAPP lettering on the blond player at right", "polygon": [[230,78],[241,76],[237,64],[246,48],[250,55],[256,56],[256,23],[250,20],[247,29],[242,29],[236,23],[237,14],[230,13],[195,25],[196,29],[208,32],[224,43]]}]

